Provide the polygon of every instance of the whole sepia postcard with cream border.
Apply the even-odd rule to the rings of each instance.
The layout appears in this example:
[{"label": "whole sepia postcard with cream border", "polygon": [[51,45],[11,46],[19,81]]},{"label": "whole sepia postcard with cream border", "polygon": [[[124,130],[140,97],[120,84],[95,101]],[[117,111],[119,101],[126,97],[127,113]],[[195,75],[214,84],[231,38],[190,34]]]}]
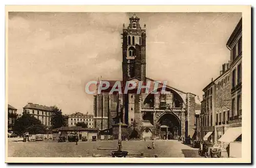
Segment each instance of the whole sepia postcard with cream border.
[{"label": "whole sepia postcard with cream border", "polygon": [[251,163],[251,7],[6,6],[5,116],[7,163]]}]

